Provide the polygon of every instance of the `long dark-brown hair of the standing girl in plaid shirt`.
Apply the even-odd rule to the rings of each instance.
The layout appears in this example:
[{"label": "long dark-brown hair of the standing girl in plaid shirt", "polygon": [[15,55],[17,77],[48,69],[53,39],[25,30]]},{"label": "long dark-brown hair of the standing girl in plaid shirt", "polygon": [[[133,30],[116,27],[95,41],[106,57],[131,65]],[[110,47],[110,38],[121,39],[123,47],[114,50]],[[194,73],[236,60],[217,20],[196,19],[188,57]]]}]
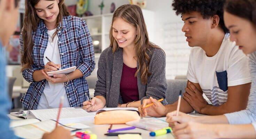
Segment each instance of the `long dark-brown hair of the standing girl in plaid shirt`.
[{"label": "long dark-brown hair of the standing girl in plaid shirt", "polygon": [[[32,32],[37,31],[37,26],[40,22],[40,19],[37,14],[36,10],[34,9],[34,6],[37,5],[37,3],[40,0],[25,0],[25,17],[24,17],[24,26],[22,29],[22,39],[24,44],[24,51],[21,54],[21,64],[22,69],[21,71],[24,71],[33,65],[33,38],[32,38]],[[54,0],[49,0],[54,1]],[[56,27],[62,24],[62,17],[68,16],[69,12],[67,10],[67,7],[64,4],[64,0],[59,0],[59,9],[60,13],[57,17]],[[53,37],[57,34],[57,31],[53,34]]]}]

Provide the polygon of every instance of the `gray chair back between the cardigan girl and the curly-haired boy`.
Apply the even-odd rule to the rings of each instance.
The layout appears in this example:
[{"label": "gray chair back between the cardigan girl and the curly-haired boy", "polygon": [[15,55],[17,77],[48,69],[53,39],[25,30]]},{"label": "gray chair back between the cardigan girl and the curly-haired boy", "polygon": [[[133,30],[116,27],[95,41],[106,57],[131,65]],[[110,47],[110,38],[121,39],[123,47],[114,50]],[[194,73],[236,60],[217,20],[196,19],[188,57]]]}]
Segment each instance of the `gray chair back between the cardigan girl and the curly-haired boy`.
[{"label": "gray chair back between the cardigan girl and the curly-haired boy", "polygon": [[167,80],[168,87],[166,90],[166,101],[168,104],[173,104],[179,98],[180,90],[182,95],[187,87],[187,80]]}]

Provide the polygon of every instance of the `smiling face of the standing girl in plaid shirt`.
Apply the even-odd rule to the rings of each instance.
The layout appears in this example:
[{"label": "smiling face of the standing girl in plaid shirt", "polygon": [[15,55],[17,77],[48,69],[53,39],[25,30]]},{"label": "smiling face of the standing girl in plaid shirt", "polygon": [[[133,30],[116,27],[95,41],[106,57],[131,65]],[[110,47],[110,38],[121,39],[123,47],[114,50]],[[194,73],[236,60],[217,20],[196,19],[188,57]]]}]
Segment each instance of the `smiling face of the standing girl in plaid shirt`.
[{"label": "smiling face of the standing girl in plaid shirt", "polygon": [[37,16],[47,23],[56,23],[60,12],[58,3],[59,0],[40,0],[37,5],[34,6]]}]

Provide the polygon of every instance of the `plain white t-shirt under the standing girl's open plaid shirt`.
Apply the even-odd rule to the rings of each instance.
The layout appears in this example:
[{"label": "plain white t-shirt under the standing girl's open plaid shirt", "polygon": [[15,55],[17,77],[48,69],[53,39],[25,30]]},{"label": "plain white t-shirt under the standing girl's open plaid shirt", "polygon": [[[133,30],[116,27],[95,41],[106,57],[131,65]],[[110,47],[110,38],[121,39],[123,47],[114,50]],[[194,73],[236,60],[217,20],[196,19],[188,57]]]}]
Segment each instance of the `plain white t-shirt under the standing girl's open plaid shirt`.
[{"label": "plain white t-shirt under the standing girl's open plaid shirt", "polygon": [[[60,50],[58,46],[58,36],[56,35],[52,41],[52,36],[54,30],[48,30],[48,43],[44,53],[44,64],[49,62],[45,57],[48,57],[55,64],[61,64]],[[61,70],[61,68],[59,68]],[[64,96],[63,107],[70,107],[67,92],[63,83],[52,84],[51,82],[46,82],[44,93],[42,93],[37,109],[47,109],[47,108],[59,108],[60,98]]]}]

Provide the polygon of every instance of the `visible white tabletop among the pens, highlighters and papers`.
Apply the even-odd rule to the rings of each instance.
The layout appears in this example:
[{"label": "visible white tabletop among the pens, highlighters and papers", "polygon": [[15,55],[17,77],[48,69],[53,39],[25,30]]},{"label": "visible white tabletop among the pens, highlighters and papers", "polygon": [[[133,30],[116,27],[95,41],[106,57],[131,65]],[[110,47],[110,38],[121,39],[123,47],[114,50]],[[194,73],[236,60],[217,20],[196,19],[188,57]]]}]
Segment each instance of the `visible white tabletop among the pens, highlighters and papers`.
[{"label": "visible white tabletop among the pens, highlighters and papers", "polygon": [[[24,120],[23,118],[15,117],[12,115],[7,115],[11,120]],[[97,139],[118,139],[117,136],[105,136],[104,134],[107,133],[107,130],[109,128],[109,124],[104,124],[104,125],[95,125],[93,123],[94,121],[86,121],[86,122],[80,122],[82,124],[91,126],[91,128],[83,129],[82,131],[85,130],[90,130],[92,133],[95,133],[97,135]],[[112,129],[118,129],[118,128],[125,128],[129,127],[129,125],[126,124],[114,124]],[[143,129],[133,129],[133,130],[126,130],[126,131],[121,131],[121,132],[140,132],[142,139],[174,139],[173,135],[171,133],[162,135],[162,136],[157,136],[157,137],[150,137],[149,132],[147,130]],[[78,139],[74,137],[75,139]]]}]

